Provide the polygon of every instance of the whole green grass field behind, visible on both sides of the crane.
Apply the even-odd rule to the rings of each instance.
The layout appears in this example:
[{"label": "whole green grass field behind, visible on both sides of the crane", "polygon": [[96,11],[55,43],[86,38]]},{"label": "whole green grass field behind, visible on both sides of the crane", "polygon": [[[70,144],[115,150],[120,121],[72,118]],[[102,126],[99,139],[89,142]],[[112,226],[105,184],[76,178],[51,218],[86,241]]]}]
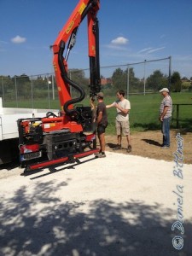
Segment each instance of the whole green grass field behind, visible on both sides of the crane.
[{"label": "whole green grass field behind, visible on both sides of the crane", "polygon": [[[190,106],[180,106],[179,107],[179,127],[185,129],[186,131],[192,131],[192,93],[172,93],[173,104],[191,104]],[[105,95],[105,103],[110,104],[116,100],[116,97]],[[159,107],[162,100],[162,96],[159,93],[156,94],[146,94],[144,95],[131,95],[129,97],[131,102],[131,112],[130,112],[130,124],[131,131],[147,131],[147,130],[159,130],[160,122],[159,117]],[[89,106],[89,99],[82,102],[84,106]],[[3,102],[4,107],[15,108],[16,102]],[[48,99],[33,101],[33,108],[60,108],[58,100]],[[32,108],[32,102],[19,101],[18,108]],[[108,108],[108,129],[107,134],[115,134],[114,120],[116,115],[115,108]],[[173,107],[172,115],[172,128],[177,128],[177,108]]]}]

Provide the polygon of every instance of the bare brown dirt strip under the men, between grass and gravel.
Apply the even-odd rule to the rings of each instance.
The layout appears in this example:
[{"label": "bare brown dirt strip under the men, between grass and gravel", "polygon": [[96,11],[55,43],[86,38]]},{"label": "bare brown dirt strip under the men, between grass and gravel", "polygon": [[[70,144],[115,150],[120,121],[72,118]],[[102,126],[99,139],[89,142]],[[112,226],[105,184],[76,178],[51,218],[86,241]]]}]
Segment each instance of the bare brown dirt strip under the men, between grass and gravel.
[{"label": "bare brown dirt strip under the men, between grass and gravel", "polygon": [[[171,131],[171,147],[162,149],[160,148],[162,143],[161,131],[142,131],[133,133],[131,135],[132,140],[132,152],[129,154],[140,155],[156,160],[173,161],[173,154],[177,150],[177,136],[178,131]],[[192,133],[181,133],[183,138],[183,155],[184,163],[192,164]],[[106,136],[106,150],[113,151],[113,147],[117,143],[116,136]],[[126,139],[122,139],[122,149],[115,151],[117,153],[128,154],[126,152],[127,144]]]}]

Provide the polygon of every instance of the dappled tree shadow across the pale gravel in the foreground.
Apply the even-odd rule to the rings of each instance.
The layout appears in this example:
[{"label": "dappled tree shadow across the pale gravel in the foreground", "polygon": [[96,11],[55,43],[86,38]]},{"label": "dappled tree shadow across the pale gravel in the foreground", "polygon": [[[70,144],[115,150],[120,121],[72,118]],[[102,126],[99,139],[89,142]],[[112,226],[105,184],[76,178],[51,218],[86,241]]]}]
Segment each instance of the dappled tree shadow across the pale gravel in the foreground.
[{"label": "dappled tree shadow across the pale gravel in the foreground", "polygon": [[143,201],[63,202],[55,192],[67,185],[42,182],[32,194],[23,186],[9,199],[1,198],[1,255],[191,255],[192,224],[187,220],[184,248],[172,247],[178,235],[172,231],[176,212]]}]

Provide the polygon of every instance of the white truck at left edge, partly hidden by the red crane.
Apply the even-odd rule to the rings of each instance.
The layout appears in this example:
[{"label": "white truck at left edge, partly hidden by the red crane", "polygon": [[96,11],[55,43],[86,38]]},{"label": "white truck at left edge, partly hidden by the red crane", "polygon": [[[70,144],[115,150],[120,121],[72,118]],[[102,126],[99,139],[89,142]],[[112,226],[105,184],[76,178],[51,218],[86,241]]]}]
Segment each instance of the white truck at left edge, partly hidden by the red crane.
[{"label": "white truck at left edge, partly hidden by the red crane", "polygon": [[59,113],[57,109],[3,108],[0,97],[0,165],[19,158],[18,119],[42,118],[46,113]]}]

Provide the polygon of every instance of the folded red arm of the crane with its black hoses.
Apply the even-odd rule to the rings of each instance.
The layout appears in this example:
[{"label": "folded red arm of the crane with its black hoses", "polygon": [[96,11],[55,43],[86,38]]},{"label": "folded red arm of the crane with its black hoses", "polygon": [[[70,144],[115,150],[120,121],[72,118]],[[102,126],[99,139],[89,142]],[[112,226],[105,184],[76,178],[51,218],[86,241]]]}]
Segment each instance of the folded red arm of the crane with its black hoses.
[{"label": "folded red arm of the crane with its black hoses", "polygon": [[[99,0],[80,0],[72,15],[63,26],[61,32],[55,40],[53,47],[55,68],[55,79],[59,91],[61,107],[65,113],[74,118],[77,110],[73,108],[73,104],[81,102],[84,99],[84,90],[73,82],[67,76],[67,59],[70,50],[76,42],[76,35],[79,25],[87,16],[88,21],[88,45],[90,57],[90,97],[96,96],[101,89],[100,85],[100,63],[99,63],[99,28],[96,18],[100,8]],[[66,47],[67,45],[67,47]],[[70,95],[70,86],[79,90],[80,96],[72,99]]]}]

